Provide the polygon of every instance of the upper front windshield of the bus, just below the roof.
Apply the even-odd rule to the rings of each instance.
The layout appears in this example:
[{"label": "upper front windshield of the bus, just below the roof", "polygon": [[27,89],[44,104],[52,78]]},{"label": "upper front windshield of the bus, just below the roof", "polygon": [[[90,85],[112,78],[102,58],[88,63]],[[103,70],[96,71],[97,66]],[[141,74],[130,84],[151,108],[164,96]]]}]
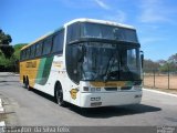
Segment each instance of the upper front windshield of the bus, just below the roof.
[{"label": "upper front windshield of the bus, just below the roof", "polygon": [[81,23],[82,38],[97,38],[137,43],[136,30],[91,22]]}]

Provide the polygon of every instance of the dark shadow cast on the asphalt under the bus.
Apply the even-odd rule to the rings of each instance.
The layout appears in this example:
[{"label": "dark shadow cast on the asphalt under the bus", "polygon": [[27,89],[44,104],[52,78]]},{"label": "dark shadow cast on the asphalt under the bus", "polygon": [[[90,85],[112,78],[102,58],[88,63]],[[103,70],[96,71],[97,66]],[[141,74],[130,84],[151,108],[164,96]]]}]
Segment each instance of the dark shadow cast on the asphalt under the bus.
[{"label": "dark shadow cast on the asphalt under the bus", "polygon": [[[32,90],[34,93],[54,102],[54,98],[40,92],[38,90]],[[146,112],[157,112],[160,111],[160,108],[150,106],[146,104],[134,104],[134,105],[121,105],[121,106],[103,106],[103,108],[94,108],[94,109],[82,109],[70,103],[64,106],[65,110],[73,111],[82,116],[86,117],[112,117],[112,116],[123,116],[123,115],[133,115],[140,114]]]}]

